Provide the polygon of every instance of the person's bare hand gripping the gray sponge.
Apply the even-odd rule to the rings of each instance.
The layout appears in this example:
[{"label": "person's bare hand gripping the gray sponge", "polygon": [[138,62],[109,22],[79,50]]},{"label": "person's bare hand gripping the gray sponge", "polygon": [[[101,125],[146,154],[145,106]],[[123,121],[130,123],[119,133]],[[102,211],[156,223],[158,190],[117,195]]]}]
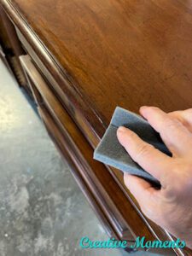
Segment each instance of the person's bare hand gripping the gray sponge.
[{"label": "person's bare hand gripping the gray sponge", "polygon": [[143,213],[192,248],[192,109],[165,113],[142,107],[140,113],[172,152],[172,157],[143,142],[133,131],[119,127],[117,137],[131,158],[160,180],[161,189],[125,173],[125,185]]}]

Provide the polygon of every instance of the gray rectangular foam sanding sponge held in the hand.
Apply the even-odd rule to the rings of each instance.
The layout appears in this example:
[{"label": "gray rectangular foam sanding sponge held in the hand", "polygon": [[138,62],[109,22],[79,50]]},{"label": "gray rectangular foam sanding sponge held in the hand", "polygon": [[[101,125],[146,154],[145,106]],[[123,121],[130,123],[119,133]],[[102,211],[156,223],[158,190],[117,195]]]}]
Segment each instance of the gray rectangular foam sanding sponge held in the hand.
[{"label": "gray rectangular foam sanding sponge held in the hand", "polygon": [[138,177],[143,177],[149,182],[159,185],[159,181],[132,160],[131,156],[125,151],[125,148],[121,146],[117,138],[117,129],[119,126],[125,126],[131,129],[131,131],[136,132],[146,143],[152,144],[164,154],[171,155],[166,145],[162,142],[159,133],[154,131],[148,124],[148,121],[136,113],[131,113],[124,108],[117,107],[115,108],[108,129],[94,151],[94,159],[123,172],[129,172]]}]

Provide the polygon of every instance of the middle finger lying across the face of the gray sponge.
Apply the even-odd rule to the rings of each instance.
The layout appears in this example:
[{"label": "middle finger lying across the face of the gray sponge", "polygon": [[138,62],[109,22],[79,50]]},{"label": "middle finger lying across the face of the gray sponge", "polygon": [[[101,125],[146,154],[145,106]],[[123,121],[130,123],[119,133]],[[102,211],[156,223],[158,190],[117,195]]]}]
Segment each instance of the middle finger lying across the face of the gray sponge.
[{"label": "middle finger lying across the face of the gray sponge", "polygon": [[131,155],[131,158],[158,180],[161,180],[164,172],[168,172],[170,169],[172,165],[171,158],[152,145],[143,142],[133,131],[125,127],[119,127],[117,137],[119,143]]}]

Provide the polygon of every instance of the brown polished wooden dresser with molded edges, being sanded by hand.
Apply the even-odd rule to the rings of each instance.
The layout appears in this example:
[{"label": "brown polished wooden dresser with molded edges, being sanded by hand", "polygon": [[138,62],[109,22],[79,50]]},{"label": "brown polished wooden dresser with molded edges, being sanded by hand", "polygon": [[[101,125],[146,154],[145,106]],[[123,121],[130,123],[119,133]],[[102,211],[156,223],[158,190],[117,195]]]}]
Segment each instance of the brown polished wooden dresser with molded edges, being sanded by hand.
[{"label": "brown polished wooden dresser with molded edges, being sanded by hand", "polygon": [[[0,4],[23,86],[108,236],[172,240],[140,211],[122,173],[93,160],[93,150],[116,106],[136,113],[142,105],[167,112],[192,107],[192,1]],[[187,249],[159,253],[192,255]]]}]

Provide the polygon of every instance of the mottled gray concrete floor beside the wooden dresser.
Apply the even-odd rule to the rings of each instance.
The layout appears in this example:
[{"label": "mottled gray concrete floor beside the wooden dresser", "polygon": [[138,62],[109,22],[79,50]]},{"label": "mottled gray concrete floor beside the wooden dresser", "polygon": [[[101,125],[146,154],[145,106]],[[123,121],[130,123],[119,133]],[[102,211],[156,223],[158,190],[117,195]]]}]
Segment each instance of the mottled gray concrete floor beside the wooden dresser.
[{"label": "mottled gray concrete floor beside the wooden dresser", "polygon": [[0,202],[1,256],[127,255],[79,247],[82,236],[108,237],[1,61]]}]

